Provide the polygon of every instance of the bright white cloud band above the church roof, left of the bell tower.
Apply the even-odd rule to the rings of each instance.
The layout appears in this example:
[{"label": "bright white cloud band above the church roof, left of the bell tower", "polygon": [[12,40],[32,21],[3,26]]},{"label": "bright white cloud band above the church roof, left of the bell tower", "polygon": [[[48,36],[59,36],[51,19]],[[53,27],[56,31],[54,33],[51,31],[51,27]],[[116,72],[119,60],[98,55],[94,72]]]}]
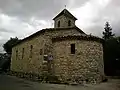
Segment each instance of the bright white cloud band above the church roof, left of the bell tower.
[{"label": "bright white cloud band above the church roof, left of the bell tower", "polygon": [[25,38],[38,30],[51,27],[50,21],[39,20],[31,17],[28,22],[21,21],[17,17],[11,17],[0,13],[0,52],[3,51],[2,45],[10,37]]}]

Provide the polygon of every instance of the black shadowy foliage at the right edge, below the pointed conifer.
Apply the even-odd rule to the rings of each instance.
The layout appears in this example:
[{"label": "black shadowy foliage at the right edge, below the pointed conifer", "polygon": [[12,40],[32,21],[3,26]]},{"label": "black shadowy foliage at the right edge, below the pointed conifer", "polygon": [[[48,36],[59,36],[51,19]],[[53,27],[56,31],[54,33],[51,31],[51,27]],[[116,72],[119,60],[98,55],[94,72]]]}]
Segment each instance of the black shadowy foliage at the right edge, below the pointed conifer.
[{"label": "black shadowy foliage at the right edge, below the pointed conifer", "polygon": [[104,44],[104,68],[106,75],[120,75],[120,37],[111,38]]}]

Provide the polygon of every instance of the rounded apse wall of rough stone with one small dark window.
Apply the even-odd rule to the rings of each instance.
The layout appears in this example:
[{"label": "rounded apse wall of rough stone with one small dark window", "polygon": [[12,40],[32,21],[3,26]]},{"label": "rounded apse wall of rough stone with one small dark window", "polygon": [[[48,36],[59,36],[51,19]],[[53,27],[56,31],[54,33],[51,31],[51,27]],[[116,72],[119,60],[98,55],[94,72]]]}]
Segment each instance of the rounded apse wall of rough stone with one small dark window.
[{"label": "rounded apse wall of rough stone with one small dark window", "polygon": [[[71,44],[75,54],[71,54]],[[100,82],[104,76],[102,44],[95,41],[65,40],[54,42],[54,72],[62,81]]]}]

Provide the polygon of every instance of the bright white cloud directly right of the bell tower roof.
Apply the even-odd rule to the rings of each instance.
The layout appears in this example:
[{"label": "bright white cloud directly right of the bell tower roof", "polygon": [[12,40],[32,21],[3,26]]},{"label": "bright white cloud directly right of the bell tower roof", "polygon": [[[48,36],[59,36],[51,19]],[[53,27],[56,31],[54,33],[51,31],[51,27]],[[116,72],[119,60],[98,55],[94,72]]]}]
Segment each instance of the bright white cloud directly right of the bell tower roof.
[{"label": "bright white cloud directly right of the bell tower roof", "polygon": [[[74,15],[78,18],[77,26],[85,30],[95,26],[93,21],[99,18],[99,13],[110,3],[111,0],[89,0],[82,7],[73,9]],[[88,30],[86,32],[89,32]]]}]

